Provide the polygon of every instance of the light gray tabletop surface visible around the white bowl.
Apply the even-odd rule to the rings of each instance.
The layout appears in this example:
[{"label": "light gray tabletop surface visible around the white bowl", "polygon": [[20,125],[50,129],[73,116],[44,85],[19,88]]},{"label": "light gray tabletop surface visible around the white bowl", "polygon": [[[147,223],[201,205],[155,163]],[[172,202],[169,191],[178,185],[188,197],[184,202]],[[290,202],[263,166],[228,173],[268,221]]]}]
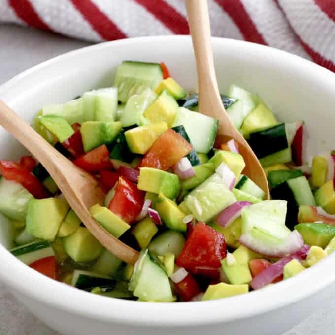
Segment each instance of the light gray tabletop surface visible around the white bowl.
[{"label": "light gray tabletop surface visible around the white bowl", "polygon": [[[88,45],[53,33],[12,25],[0,25],[0,84],[64,52]],[[312,283],[311,283],[312,285]],[[335,304],[316,311],[285,335],[334,335]],[[0,284],[0,335],[56,335],[17,303]]]}]

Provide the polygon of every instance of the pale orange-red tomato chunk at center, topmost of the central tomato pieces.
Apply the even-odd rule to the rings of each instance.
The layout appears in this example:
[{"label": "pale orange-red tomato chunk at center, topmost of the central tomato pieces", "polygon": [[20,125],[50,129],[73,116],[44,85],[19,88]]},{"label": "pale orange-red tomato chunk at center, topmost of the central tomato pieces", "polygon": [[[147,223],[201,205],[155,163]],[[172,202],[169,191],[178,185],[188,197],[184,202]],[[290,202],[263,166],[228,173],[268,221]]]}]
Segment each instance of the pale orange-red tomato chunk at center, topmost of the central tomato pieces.
[{"label": "pale orange-red tomato chunk at center, topmost of the central tomato pieces", "polygon": [[156,139],[139,166],[167,171],[192,149],[192,145],[185,138],[168,129]]}]

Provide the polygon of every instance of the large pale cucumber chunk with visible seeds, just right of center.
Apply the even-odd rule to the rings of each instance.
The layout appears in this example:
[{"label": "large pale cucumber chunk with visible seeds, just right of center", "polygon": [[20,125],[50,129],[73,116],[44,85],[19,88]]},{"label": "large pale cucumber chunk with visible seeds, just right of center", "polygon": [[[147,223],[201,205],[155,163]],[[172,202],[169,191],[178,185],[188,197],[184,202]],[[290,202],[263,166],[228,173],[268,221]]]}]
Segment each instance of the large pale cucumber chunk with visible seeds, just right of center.
[{"label": "large pale cucumber chunk with visible seeds, just right of center", "polygon": [[220,211],[234,203],[236,198],[226,188],[222,178],[215,173],[190,192],[184,201],[197,220],[208,222]]}]

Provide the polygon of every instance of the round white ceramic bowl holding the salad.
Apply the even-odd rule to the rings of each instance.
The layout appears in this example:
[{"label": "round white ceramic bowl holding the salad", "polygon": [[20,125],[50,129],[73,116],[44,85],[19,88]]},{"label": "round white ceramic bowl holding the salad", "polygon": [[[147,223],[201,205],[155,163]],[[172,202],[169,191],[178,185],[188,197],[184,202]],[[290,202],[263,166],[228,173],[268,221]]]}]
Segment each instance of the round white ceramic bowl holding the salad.
[{"label": "round white ceramic bowl holding the salad", "polygon": [[[284,121],[305,120],[308,154],[332,149],[335,75],[269,47],[213,38],[220,91],[236,83],[261,95]],[[56,57],[0,87],[0,98],[31,121],[44,104],[64,102],[110,86],[122,60],[166,62],[186,89],[197,84],[188,36],[144,37],[104,43]],[[23,148],[2,128],[1,158]],[[3,241],[2,241],[3,242]],[[0,245],[0,280],[37,317],[62,334],[280,335],[327,304],[334,290],[335,253],[296,277],[246,295],[207,302],[148,303],[104,298],[50,280]]]}]

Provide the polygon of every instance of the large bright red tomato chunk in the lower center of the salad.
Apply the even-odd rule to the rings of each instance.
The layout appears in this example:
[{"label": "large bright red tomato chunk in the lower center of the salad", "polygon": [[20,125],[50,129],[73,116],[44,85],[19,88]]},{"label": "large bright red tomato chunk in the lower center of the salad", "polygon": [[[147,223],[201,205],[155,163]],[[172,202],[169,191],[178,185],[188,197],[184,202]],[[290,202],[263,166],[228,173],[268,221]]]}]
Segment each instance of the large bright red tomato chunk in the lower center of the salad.
[{"label": "large bright red tomato chunk in the lower center of the salad", "polygon": [[219,268],[220,261],[225,257],[224,236],[203,222],[198,222],[176,263],[192,273],[197,273],[197,267]]}]

